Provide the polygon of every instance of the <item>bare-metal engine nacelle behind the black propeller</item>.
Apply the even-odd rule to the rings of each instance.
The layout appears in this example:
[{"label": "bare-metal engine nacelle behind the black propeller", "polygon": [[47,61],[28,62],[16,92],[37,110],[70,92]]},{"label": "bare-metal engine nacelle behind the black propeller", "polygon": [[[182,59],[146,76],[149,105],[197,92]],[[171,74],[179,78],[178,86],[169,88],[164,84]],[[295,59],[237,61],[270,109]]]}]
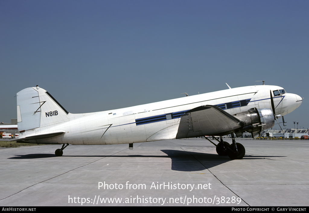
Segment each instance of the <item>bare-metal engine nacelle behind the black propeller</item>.
[{"label": "bare-metal engine nacelle behind the black propeller", "polygon": [[243,128],[239,132],[235,132],[237,137],[245,131],[251,133],[253,138],[260,137],[264,129],[272,128],[275,125],[275,118],[271,109],[251,108],[234,116],[244,122]]}]

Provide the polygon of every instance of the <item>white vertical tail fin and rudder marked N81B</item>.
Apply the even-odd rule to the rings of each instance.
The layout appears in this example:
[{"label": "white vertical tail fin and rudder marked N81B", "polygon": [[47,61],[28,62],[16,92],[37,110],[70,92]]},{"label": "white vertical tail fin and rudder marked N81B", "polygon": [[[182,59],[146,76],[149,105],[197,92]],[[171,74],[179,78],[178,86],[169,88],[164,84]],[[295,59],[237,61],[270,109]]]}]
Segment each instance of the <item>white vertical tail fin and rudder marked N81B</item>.
[{"label": "white vertical tail fin and rudder marked N81B", "polygon": [[19,132],[68,121],[68,114],[53,96],[38,86],[17,93]]}]

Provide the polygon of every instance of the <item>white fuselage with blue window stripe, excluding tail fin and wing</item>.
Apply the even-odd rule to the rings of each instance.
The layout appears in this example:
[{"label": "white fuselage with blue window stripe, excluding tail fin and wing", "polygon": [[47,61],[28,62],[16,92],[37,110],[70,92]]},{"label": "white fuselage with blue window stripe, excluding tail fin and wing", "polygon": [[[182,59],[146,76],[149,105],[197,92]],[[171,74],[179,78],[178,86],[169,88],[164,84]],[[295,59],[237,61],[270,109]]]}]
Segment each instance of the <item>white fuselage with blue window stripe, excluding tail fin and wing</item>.
[{"label": "white fuselage with blue window stripe, excluding tail fin and wing", "polygon": [[[73,145],[124,144],[175,139],[184,111],[203,105],[216,105],[234,115],[251,108],[271,109],[270,91],[278,86],[258,85],[176,98],[167,101],[85,114],[68,114],[67,121],[20,133],[65,132],[61,136],[29,140],[31,143]],[[301,104],[302,98],[291,93],[274,96],[276,114],[286,115]],[[44,113],[44,112],[42,112]],[[48,118],[46,116],[46,118]],[[43,121],[41,120],[41,124]]]}]

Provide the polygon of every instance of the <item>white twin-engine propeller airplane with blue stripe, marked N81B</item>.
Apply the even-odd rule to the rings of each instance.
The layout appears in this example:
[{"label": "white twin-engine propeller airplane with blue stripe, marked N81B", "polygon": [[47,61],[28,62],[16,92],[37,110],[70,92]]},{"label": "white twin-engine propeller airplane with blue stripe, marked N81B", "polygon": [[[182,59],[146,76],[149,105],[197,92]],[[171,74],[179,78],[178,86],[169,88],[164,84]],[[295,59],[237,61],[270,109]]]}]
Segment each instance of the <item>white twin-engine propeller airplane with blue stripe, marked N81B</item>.
[{"label": "white twin-engine propeller airplane with blue stripe, marked N81B", "polygon": [[[258,85],[226,89],[116,110],[72,114],[46,90],[36,86],[17,93],[19,138],[12,141],[72,145],[105,145],[219,136],[216,151],[242,159],[245,148],[236,137],[245,131],[259,137],[275,120],[302,103],[279,86]],[[222,136],[231,134],[232,144]]]}]

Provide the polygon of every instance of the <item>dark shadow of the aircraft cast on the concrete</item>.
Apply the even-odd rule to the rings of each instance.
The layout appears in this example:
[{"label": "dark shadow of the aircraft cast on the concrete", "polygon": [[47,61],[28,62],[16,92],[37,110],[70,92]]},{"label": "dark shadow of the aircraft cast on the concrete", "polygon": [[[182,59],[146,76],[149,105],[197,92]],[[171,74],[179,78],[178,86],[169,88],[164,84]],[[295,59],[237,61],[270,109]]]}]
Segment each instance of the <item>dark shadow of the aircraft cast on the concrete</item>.
[{"label": "dark shadow of the aircraft cast on the concrete", "polygon": [[[63,155],[63,157],[120,157],[120,158],[170,158],[171,170],[194,172],[209,169],[222,163],[231,161],[228,156],[219,156],[218,154],[208,154],[201,152],[188,152],[182,150],[161,150],[166,155]],[[9,159],[38,159],[38,158],[54,158],[54,154],[26,154],[18,155]],[[252,156],[245,155],[243,159],[269,159],[273,157],[285,156]],[[57,157],[59,158],[59,157]],[[269,159],[274,160],[274,159]]]}]

